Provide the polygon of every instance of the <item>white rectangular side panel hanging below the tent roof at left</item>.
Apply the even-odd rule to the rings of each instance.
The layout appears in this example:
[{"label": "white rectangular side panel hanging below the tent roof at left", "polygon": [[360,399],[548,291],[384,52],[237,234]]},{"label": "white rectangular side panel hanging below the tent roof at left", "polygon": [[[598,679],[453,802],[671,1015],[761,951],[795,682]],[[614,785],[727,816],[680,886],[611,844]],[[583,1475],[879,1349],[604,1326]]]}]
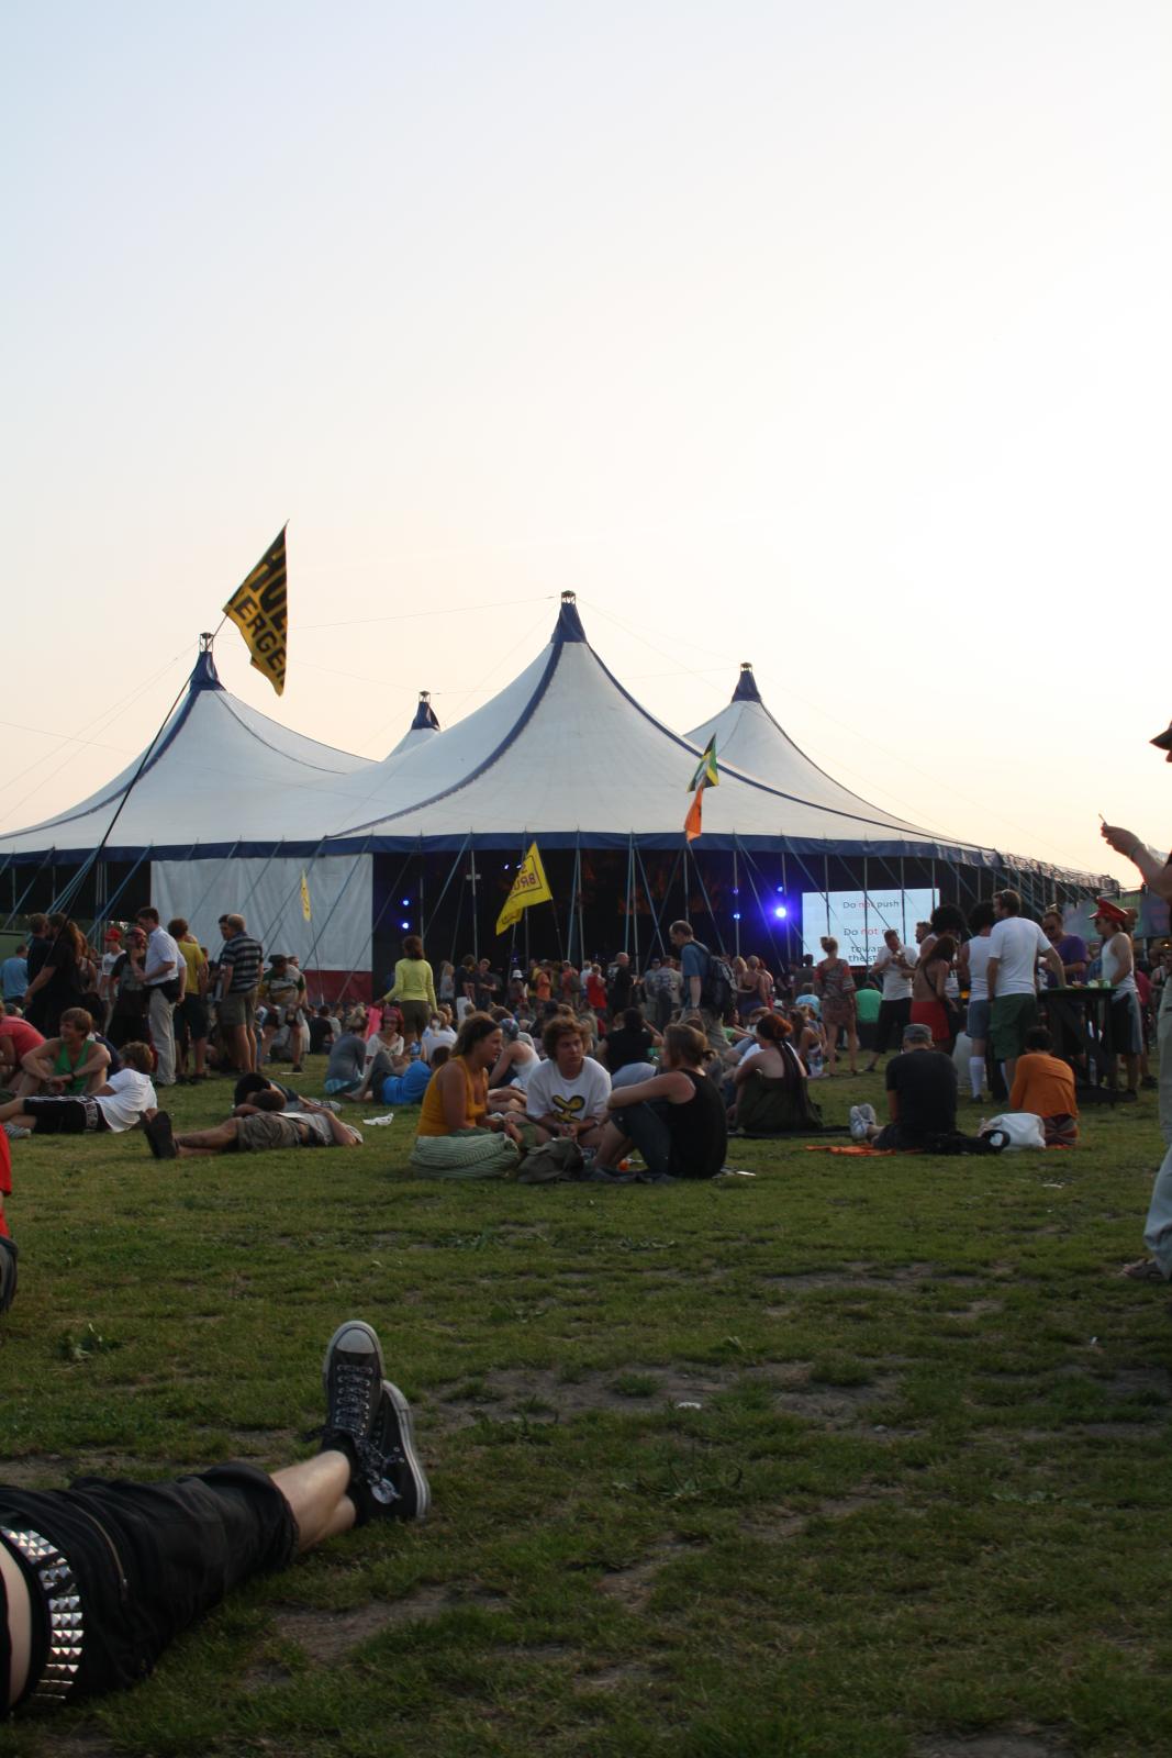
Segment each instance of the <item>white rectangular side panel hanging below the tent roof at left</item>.
[{"label": "white rectangular side panel hanging below the tent roof at left", "polygon": [[[302,872],[309,921],[300,907]],[[302,970],[369,970],[373,895],[369,854],[151,863],[151,902],[160,916],[184,916],[213,958],[223,944],[220,916],[239,912],[265,953],[293,953]]]}]

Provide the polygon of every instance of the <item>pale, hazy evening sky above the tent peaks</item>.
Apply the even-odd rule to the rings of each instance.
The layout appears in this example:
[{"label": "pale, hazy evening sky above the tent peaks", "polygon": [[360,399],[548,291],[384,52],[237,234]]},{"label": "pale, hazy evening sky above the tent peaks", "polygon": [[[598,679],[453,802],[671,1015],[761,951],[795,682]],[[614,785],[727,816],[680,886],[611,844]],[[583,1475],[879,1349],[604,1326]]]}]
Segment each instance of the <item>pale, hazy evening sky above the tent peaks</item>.
[{"label": "pale, hazy evening sky above the tent peaks", "polygon": [[676,730],[750,659],[903,817],[1167,849],[1167,5],[16,0],[2,40],[0,828],[149,740],[288,520],[285,696],[216,661],[329,744],[471,712],[573,589]]}]

